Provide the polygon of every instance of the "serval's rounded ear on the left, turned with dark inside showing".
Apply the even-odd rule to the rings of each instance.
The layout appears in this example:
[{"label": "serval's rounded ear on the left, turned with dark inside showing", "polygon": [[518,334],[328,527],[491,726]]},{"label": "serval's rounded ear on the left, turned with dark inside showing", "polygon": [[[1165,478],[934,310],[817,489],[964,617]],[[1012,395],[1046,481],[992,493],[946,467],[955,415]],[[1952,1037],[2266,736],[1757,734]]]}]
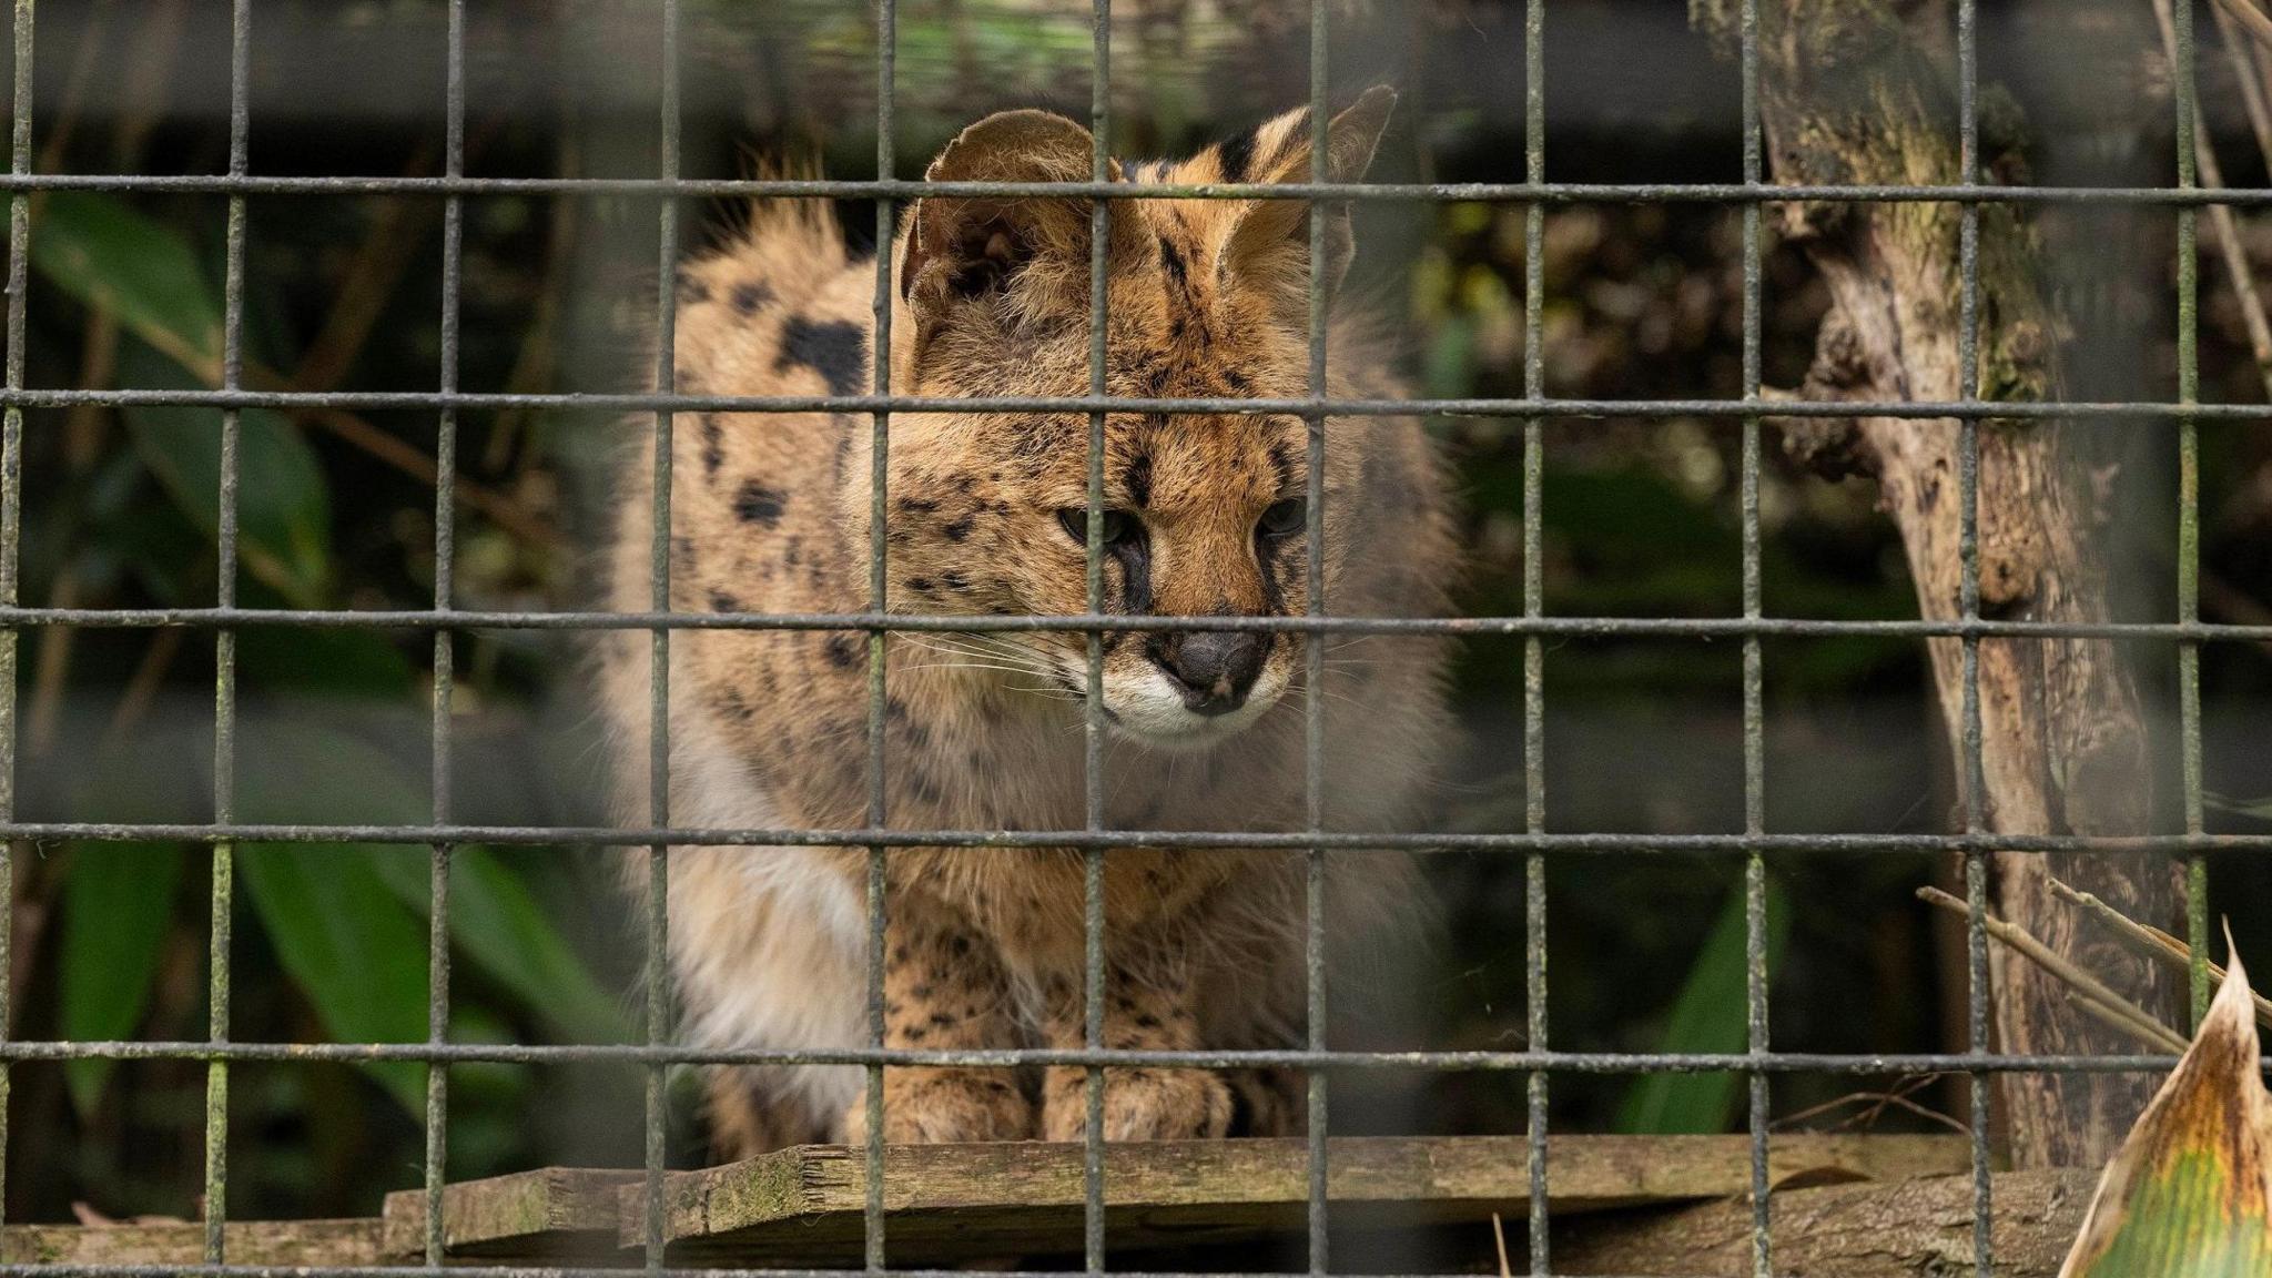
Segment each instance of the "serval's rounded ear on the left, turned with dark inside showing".
[{"label": "serval's rounded ear on the left, turned with dark inside showing", "polygon": [[[963,130],[925,171],[927,182],[1088,182],[1095,146],[1050,111],[1002,111]],[[1106,164],[1120,182],[1120,164]],[[1086,196],[927,196],[916,202],[900,259],[900,296],[925,334],[963,318],[1018,325],[1088,309]],[[1125,223],[1131,218],[1116,218]],[[1109,248],[1136,227],[1113,227]],[[1134,239],[1129,239],[1134,243]],[[984,316],[972,314],[984,307]]]}]

